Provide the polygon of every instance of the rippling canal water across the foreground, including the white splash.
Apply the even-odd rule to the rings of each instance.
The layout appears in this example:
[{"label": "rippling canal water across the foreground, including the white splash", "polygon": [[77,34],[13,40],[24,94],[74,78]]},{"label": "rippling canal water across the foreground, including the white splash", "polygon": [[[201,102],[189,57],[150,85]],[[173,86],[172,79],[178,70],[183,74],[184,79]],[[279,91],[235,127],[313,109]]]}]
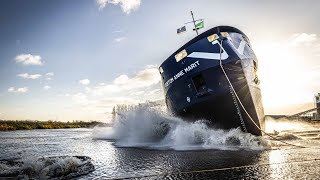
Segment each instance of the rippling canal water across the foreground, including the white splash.
[{"label": "rippling canal water across the foreground, including the white splash", "polygon": [[[267,120],[267,131],[302,146],[297,147],[239,129],[211,129],[204,121],[187,123],[161,112],[135,110],[114,127],[0,132],[0,179],[4,172],[23,173],[17,168],[27,165],[34,173],[20,177],[46,178],[57,170],[44,169],[39,159],[60,159],[53,163],[64,171],[78,167],[74,156],[90,157],[95,167],[92,172],[78,169],[78,179],[319,179],[319,127]],[[24,165],[14,167],[9,161]]]}]

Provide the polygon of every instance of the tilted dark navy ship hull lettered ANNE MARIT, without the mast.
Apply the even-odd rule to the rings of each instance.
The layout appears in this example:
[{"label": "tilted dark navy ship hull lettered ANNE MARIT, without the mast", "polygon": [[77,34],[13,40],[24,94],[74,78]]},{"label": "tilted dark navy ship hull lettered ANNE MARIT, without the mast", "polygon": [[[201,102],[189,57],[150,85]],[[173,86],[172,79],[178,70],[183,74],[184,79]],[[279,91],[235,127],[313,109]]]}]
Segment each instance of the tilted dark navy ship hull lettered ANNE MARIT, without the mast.
[{"label": "tilted dark navy ship hull lettered ANNE MARIT, without the mast", "polygon": [[265,120],[257,71],[248,37],[231,26],[197,35],[159,67],[165,103],[173,115],[261,136]]}]

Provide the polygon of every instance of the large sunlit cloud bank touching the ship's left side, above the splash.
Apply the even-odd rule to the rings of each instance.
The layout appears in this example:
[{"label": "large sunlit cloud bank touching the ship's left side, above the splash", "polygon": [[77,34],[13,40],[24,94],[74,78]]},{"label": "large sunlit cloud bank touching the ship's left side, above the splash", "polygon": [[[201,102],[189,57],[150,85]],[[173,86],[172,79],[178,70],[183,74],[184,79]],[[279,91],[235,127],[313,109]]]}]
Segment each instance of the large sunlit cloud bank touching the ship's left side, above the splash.
[{"label": "large sunlit cloud bank touching the ship's left side, above the splash", "polygon": [[156,66],[146,66],[133,75],[121,74],[109,83],[84,87],[83,92],[68,94],[83,111],[98,119],[111,118],[117,104],[138,104],[163,99],[160,74]]}]

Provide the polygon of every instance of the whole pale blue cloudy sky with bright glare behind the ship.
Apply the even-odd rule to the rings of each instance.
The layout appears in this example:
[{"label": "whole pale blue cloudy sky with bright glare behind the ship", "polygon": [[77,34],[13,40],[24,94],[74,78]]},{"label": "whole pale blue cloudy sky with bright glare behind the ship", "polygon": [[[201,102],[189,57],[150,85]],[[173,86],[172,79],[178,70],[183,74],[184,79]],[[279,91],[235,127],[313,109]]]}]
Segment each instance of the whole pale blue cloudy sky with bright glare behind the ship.
[{"label": "whole pale blue cloudy sky with bright glare behind the ship", "polygon": [[313,107],[320,92],[320,1],[2,0],[0,119],[99,120],[163,99],[158,66],[204,32],[234,26],[259,59],[266,114]]}]

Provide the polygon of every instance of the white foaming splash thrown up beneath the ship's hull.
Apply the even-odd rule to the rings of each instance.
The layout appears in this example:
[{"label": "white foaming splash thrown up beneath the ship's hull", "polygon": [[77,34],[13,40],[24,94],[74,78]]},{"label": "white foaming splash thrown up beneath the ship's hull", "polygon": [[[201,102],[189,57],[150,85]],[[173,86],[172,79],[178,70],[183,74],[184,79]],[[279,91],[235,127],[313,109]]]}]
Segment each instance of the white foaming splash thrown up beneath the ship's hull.
[{"label": "white foaming splash thrown up beneath the ship's hull", "polygon": [[112,140],[118,147],[160,150],[269,148],[262,137],[244,133],[238,128],[212,129],[203,120],[185,122],[147,106],[119,115],[112,129],[96,129],[93,138]]}]

